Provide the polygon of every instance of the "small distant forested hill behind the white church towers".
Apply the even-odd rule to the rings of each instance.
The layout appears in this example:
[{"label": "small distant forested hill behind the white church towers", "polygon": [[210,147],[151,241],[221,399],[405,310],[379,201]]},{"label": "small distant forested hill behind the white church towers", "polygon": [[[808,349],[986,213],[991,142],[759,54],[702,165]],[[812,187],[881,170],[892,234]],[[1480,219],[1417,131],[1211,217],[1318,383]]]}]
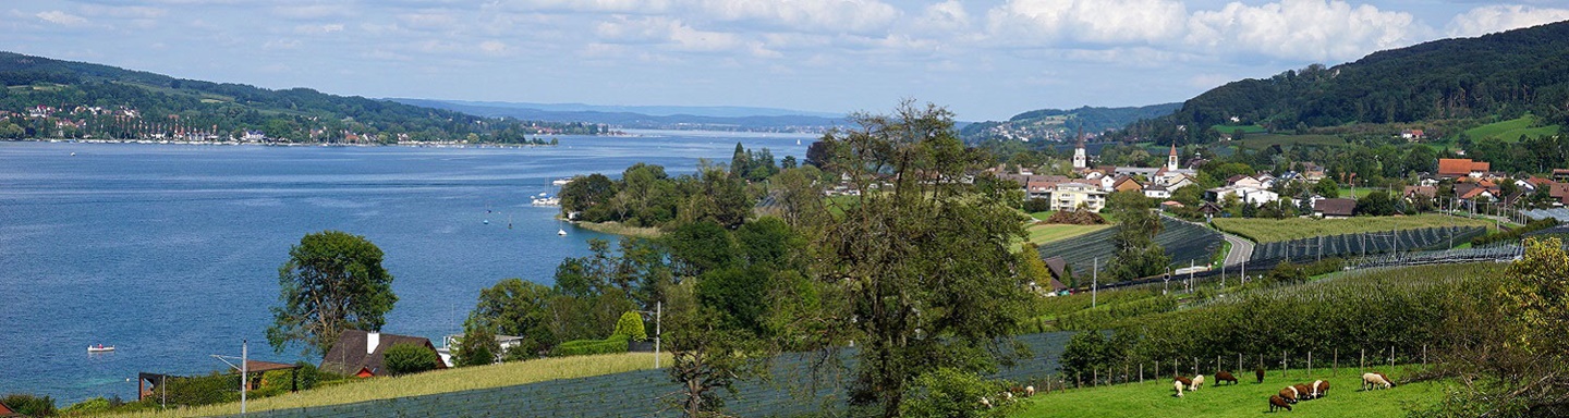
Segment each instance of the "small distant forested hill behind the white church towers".
[{"label": "small distant forested hill behind the white church towers", "polygon": [[1089,133],[1127,127],[1141,119],[1172,114],[1181,103],[1149,105],[1138,108],[1032,110],[1015,114],[1006,122],[987,121],[967,125],[960,136],[968,142],[982,139],[1067,139],[1079,128]]}]

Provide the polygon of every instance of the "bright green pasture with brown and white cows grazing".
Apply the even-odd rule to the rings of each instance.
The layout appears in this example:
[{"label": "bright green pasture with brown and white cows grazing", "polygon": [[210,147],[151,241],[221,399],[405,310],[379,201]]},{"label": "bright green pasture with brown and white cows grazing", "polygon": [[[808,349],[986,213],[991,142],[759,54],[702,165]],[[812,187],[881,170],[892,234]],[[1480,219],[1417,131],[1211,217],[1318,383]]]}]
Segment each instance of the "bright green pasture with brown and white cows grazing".
[{"label": "bright green pasture with brown and white cows grazing", "polygon": [[[1025,401],[1025,409],[1014,416],[1258,416],[1269,410],[1269,395],[1287,384],[1312,384],[1324,379],[1329,369],[1318,369],[1315,377],[1293,371],[1290,379],[1279,371],[1254,384],[1252,373],[1240,385],[1205,385],[1188,391],[1183,398],[1172,396],[1170,380],[1073,390],[1036,396]],[[1329,396],[1302,401],[1285,416],[1401,416],[1409,407],[1423,407],[1443,395],[1443,384],[1409,384],[1390,390],[1360,391],[1360,374],[1340,369],[1329,377]],[[1213,376],[1207,376],[1213,379]],[[1398,376],[1396,376],[1398,379]]]}]

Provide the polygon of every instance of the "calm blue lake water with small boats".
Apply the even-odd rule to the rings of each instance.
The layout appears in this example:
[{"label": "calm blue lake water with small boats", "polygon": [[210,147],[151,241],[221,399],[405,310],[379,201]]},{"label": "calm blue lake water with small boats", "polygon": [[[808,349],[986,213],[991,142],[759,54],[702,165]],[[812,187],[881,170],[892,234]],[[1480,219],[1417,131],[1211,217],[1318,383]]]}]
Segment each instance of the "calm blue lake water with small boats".
[{"label": "calm blue lake water with small boats", "polygon": [[[609,238],[557,236],[555,208],[529,205],[555,194],[551,180],[639,161],[687,174],[728,163],[737,141],[802,158],[797,138],[811,142],[646,135],[532,149],[0,142],[0,393],[135,399],[138,371],[220,369],[209,355],[238,355],[242,340],[253,359],[301,360],[264,330],[289,246],[323,229],[386,252],[400,301],[384,332],[439,341],[480,288],[551,283],[563,257]],[[118,351],[86,354],[99,343]]]}]

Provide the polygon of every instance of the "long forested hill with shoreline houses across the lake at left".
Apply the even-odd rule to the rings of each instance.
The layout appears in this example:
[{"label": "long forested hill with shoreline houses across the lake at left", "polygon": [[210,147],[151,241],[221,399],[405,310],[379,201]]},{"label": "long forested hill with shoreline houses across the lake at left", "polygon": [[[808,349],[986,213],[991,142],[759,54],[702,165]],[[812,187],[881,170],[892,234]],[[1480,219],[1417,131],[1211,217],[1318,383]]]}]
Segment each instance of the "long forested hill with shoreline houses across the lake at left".
[{"label": "long forested hill with shoreline houses across the lake at left", "polygon": [[94,138],[257,142],[524,142],[606,127],[524,122],[342,97],[314,89],[182,80],[0,52],[0,139]]}]

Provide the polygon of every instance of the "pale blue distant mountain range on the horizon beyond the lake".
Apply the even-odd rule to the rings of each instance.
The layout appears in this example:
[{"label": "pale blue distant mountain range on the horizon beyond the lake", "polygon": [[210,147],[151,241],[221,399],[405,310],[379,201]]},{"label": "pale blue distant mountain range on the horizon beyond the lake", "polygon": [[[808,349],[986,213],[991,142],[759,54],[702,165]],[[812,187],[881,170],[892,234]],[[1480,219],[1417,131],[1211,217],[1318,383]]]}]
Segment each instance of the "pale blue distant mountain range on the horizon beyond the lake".
[{"label": "pale blue distant mountain range on the horizon beyond the lake", "polygon": [[590,122],[623,128],[692,128],[739,132],[822,132],[844,125],[844,114],[747,106],[599,106],[581,103],[510,103],[389,99],[399,103],[491,117]]}]

